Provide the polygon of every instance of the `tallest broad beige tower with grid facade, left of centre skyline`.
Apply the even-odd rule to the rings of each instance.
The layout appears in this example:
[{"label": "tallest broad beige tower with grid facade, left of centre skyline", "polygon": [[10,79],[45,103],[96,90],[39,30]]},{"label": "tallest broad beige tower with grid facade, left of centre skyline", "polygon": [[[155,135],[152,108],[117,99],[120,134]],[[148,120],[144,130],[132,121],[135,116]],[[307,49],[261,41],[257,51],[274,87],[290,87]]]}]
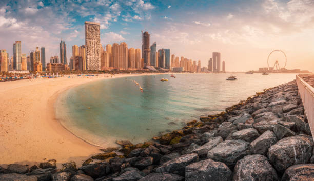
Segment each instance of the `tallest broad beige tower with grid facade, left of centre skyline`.
[{"label": "tallest broad beige tower with grid facade, left of centre skyline", "polygon": [[100,24],[85,22],[86,69],[101,70]]}]

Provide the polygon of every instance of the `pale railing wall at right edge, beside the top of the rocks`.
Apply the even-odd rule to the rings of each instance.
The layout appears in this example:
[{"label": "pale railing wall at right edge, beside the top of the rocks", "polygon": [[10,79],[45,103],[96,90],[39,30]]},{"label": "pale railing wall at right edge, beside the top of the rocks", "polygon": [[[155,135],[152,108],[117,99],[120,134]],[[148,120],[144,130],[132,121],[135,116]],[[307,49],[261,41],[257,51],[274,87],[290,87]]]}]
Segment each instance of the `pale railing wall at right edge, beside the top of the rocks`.
[{"label": "pale railing wall at right edge, beside the top of the rocks", "polygon": [[296,75],[296,81],[308,124],[314,137],[314,88],[302,79],[308,76],[314,78],[314,74],[300,74]]}]

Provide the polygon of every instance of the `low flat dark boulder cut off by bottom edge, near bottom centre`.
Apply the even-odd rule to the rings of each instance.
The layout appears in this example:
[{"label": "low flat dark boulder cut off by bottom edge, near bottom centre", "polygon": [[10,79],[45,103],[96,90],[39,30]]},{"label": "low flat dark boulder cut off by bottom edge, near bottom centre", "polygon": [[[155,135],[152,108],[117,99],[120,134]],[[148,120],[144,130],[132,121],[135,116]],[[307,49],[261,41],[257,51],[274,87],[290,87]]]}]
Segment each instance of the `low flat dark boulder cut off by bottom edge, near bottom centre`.
[{"label": "low flat dark boulder cut off by bottom edge, near bottom centre", "polygon": [[150,173],[139,181],[183,181],[184,177],[173,173]]}]

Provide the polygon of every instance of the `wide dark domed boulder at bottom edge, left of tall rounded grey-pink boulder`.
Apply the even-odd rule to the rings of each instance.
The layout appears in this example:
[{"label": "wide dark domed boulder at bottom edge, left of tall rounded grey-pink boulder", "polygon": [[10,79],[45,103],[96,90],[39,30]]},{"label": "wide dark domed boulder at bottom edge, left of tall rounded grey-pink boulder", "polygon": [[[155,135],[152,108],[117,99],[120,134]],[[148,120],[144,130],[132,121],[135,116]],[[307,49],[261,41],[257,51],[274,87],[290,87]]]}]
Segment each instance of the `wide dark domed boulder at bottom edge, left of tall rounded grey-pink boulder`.
[{"label": "wide dark domed boulder at bottom edge, left of tall rounded grey-pink boulder", "polygon": [[222,162],[202,160],[185,167],[185,181],[232,180],[232,171]]}]

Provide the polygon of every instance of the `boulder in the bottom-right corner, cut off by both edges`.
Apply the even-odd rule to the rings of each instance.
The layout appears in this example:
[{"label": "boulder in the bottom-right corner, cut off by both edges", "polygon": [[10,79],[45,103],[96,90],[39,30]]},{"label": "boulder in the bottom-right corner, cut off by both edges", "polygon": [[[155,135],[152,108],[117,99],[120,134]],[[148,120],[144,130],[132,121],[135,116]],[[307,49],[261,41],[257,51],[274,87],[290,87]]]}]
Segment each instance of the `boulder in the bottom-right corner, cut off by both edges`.
[{"label": "boulder in the bottom-right corner, cut off by both edges", "polygon": [[314,178],[314,164],[293,165],[285,171],[281,180],[310,181]]}]

